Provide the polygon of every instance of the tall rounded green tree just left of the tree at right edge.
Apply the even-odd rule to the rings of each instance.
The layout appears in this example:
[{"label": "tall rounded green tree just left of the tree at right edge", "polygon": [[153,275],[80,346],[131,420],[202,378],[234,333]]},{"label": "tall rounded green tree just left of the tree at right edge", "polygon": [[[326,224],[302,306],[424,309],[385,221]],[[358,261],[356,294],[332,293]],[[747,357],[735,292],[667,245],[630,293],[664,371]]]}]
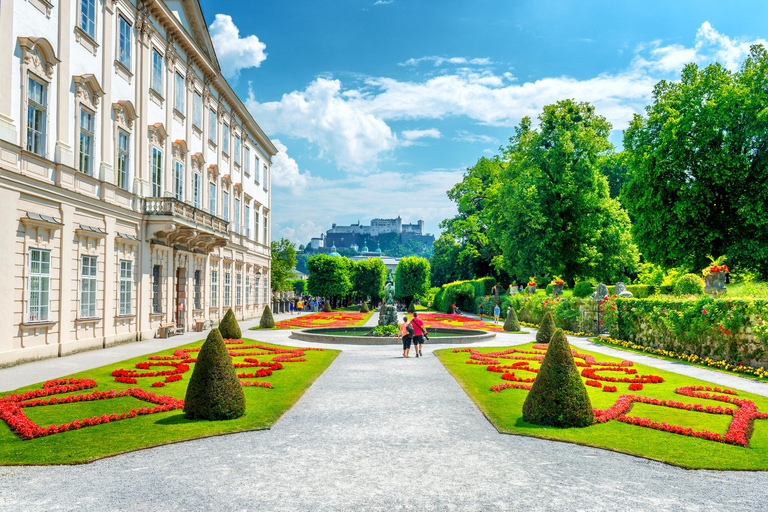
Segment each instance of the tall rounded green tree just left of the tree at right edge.
[{"label": "tall rounded green tree just left of the tree at right edge", "polygon": [[592,105],[563,100],[544,107],[539,129],[524,118],[504,158],[494,233],[517,277],[622,278],[638,261],[630,222],[600,172],[612,155],[611,125]]}]

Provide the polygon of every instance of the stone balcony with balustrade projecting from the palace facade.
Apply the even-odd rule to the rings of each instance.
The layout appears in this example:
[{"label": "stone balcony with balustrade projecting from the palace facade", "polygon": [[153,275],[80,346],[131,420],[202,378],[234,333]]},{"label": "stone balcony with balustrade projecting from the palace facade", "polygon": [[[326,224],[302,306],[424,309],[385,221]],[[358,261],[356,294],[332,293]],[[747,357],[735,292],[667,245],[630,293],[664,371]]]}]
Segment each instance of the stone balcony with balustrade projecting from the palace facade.
[{"label": "stone balcony with balustrade projecting from the palace facade", "polygon": [[208,254],[229,240],[227,221],[173,197],[145,198],[144,214],[150,237],[169,247]]}]

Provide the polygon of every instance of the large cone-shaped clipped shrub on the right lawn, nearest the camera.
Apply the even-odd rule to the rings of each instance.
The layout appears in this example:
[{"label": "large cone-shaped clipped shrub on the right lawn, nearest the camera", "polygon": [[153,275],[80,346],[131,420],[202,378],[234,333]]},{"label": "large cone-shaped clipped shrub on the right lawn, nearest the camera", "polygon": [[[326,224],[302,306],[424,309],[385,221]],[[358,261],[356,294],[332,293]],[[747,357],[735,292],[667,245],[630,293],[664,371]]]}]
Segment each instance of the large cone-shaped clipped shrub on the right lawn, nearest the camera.
[{"label": "large cone-shaped clipped shrub on the right lawn, nearest the camera", "polygon": [[595,421],[587,388],[562,329],[547,347],[536,380],[523,404],[523,420],[553,427],[586,427]]}]

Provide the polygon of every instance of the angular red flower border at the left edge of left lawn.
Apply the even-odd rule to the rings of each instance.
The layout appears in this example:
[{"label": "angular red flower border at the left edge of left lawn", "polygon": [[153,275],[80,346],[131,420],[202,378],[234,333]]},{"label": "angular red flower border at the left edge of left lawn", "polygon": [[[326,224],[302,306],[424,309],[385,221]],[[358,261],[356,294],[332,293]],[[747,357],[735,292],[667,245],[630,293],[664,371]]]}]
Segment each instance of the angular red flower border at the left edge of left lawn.
[{"label": "angular red flower border at the left edge of left lawn", "polygon": [[[128,418],[135,418],[137,416],[144,416],[147,414],[155,414],[164,411],[173,411],[176,409],[184,408],[184,401],[177,400],[171,396],[155,395],[144,391],[143,389],[126,389],[123,391],[115,392],[111,389],[109,391],[95,391],[93,393],[70,395],[65,397],[51,397],[47,400],[34,399],[37,396],[49,396],[61,393],[68,393],[71,391],[78,391],[81,389],[88,389],[95,387],[95,381],[91,379],[71,379],[68,384],[51,384],[57,381],[48,381],[43,384],[42,390],[34,390],[22,395],[12,394],[0,397],[0,419],[5,421],[8,426],[16,432],[16,434],[22,439],[34,439],[37,437],[50,436],[58,434],[59,432],[67,432],[69,430],[77,430],[84,427],[92,427],[94,425],[101,425],[102,423],[110,423],[112,421],[120,421]],[[40,394],[39,391],[50,391],[45,394]],[[30,420],[23,409],[26,407],[39,407],[45,405],[65,404],[84,402],[92,400],[108,400],[111,398],[118,398],[123,396],[132,396],[139,400],[156,404],[155,407],[139,407],[133,409],[127,413],[122,414],[104,414],[102,416],[94,416],[93,418],[84,418],[82,420],[74,420],[69,423],[63,423],[61,425],[51,425],[49,427],[41,427],[34,421]]]}]

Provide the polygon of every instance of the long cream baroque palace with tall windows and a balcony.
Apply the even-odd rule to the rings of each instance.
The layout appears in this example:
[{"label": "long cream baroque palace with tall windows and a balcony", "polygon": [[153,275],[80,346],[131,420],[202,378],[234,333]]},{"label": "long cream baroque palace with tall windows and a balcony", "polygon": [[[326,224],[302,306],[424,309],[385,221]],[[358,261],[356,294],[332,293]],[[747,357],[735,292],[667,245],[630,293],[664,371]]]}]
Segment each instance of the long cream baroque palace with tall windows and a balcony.
[{"label": "long cream baroque palace with tall windows and a balcony", "polygon": [[276,152],[197,0],[0,0],[0,366],[260,315]]}]

